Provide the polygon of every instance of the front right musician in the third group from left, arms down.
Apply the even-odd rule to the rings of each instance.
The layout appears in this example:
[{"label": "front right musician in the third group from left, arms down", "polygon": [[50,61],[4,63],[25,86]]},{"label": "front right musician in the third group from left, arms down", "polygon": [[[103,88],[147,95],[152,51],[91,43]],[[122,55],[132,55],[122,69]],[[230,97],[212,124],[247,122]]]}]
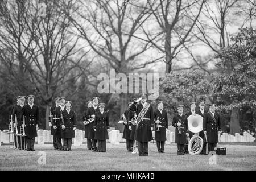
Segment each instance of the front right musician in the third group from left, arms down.
[{"label": "front right musician in the third group from left, arms down", "polygon": [[100,103],[98,106],[100,111],[95,113],[95,121],[93,122],[94,139],[97,140],[98,152],[106,152],[106,140],[109,139],[109,114],[104,111],[105,103]]}]

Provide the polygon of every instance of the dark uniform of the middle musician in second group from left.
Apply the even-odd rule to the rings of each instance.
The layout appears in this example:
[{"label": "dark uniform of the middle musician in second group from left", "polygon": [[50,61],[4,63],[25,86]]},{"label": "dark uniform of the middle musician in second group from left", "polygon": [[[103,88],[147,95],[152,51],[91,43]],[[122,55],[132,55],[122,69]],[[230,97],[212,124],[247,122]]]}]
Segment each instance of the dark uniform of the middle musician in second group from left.
[{"label": "dark uniform of the middle musician in second group from left", "polygon": [[[56,117],[60,118],[61,117],[61,113],[63,113],[64,109],[62,110],[61,107],[56,107]],[[61,142],[61,123],[62,123],[62,119],[56,119],[56,122],[53,122],[53,125],[57,127],[57,129],[55,130],[54,133],[54,137],[57,138],[57,145],[58,145],[58,150],[64,150],[64,146],[63,143]]]}]

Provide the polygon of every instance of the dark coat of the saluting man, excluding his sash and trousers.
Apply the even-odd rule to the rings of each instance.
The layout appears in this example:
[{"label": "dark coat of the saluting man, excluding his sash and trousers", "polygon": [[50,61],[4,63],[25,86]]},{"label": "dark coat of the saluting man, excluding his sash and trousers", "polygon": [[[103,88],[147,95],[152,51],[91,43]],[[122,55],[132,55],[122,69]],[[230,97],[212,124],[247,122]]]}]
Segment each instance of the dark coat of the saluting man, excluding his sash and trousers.
[{"label": "dark coat of the saluting man, excluding his sash and trousers", "polygon": [[[135,111],[137,116],[142,109],[143,105],[141,103],[137,105],[136,102],[134,102],[130,106],[130,110]],[[138,142],[148,142],[153,140],[151,127],[154,126],[154,112],[151,105],[148,107],[144,118],[148,118],[149,120],[142,119],[139,124],[137,123],[137,129],[135,130],[135,140]]]}]

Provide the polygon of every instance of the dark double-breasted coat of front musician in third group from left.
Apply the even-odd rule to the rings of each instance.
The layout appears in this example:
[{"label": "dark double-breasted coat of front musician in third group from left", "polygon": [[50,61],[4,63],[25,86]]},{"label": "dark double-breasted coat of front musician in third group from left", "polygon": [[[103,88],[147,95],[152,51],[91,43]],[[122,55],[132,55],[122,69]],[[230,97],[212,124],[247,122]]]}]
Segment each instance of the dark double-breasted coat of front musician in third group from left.
[{"label": "dark double-breasted coat of front musician in third group from left", "polygon": [[109,135],[108,135],[109,114],[106,111],[104,111],[103,114],[101,114],[100,111],[95,113],[93,129],[96,129],[94,139],[96,139],[96,140],[109,139]]}]

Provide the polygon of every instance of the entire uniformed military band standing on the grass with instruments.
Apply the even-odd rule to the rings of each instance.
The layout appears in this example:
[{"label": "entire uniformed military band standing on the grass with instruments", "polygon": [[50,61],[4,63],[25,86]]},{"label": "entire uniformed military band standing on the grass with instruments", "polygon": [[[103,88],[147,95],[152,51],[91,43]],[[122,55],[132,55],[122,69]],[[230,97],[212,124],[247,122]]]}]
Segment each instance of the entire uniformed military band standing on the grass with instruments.
[{"label": "entire uniformed military band standing on the grass with instruments", "polygon": [[[34,143],[39,123],[39,107],[34,104],[34,95],[16,97],[17,104],[10,112],[9,133],[13,134],[15,148],[35,151]],[[27,99],[27,104],[25,101]],[[85,125],[85,138],[87,148],[94,152],[106,152],[106,140],[109,139],[109,113],[105,110],[105,103],[99,104],[100,98],[93,97],[87,102],[82,121]],[[189,104],[190,111],[183,113],[184,105],[176,107],[172,119],[175,129],[175,143],[177,155],[208,154],[214,151],[218,143],[218,134],[221,133],[220,114],[215,112],[215,104],[209,104],[209,111],[205,111],[205,101]],[[167,111],[163,109],[164,102],[157,103],[154,111],[147,102],[147,94],[141,94],[127,104],[127,109],[121,115],[125,125],[123,138],[126,139],[126,148],[132,154],[148,156],[148,142],[153,140],[152,131],[155,125],[155,138],[157,150],[164,153],[164,144],[167,140],[168,129]],[[200,122],[201,121],[201,122]],[[65,97],[55,98],[55,106],[51,107],[49,126],[53,135],[54,150],[72,151],[72,138],[75,137],[77,126],[76,114],[72,110],[72,102]],[[200,129],[201,127],[201,129]]]}]

